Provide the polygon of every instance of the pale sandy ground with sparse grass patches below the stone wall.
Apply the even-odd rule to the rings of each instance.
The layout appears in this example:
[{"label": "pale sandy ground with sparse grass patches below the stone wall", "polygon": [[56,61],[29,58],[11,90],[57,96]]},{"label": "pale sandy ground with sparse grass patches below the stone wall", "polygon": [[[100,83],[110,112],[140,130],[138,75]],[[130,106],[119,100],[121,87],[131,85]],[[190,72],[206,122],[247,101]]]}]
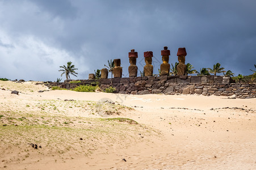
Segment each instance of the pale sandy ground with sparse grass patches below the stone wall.
[{"label": "pale sandy ground with sparse grass patches below the stone wall", "polygon": [[256,168],[256,99],[35,84],[0,81],[0,169]]}]

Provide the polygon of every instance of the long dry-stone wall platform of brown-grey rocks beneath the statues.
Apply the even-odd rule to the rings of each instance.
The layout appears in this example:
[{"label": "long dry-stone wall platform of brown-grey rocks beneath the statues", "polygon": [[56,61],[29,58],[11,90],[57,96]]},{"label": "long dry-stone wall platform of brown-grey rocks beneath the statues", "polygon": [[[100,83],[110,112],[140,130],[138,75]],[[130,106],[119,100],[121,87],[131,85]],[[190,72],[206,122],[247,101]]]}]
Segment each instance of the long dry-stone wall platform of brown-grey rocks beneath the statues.
[{"label": "long dry-stone wall platform of brown-grey rocks beneath the statues", "polygon": [[81,84],[96,84],[104,90],[107,87],[115,87],[116,93],[145,95],[145,94],[198,94],[232,96],[237,98],[255,98],[255,83],[233,83],[232,78],[225,76],[144,76],[131,78],[89,79],[81,80],[81,83],[51,83],[48,87],[59,86],[61,88],[74,88]]}]

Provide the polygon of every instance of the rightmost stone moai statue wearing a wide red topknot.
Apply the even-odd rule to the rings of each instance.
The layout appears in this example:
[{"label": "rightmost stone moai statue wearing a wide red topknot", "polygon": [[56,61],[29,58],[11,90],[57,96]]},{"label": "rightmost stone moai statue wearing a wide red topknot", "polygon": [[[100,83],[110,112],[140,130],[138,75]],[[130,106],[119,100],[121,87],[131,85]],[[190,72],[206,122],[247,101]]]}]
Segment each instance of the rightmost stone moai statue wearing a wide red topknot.
[{"label": "rightmost stone moai statue wearing a wide red topknot", "polygon": [[186,75],[187,66],[185,65],[185,57],[187,56],[186,48],[178,49],[178,61],[179,64],[177,66],[178,75]]}]

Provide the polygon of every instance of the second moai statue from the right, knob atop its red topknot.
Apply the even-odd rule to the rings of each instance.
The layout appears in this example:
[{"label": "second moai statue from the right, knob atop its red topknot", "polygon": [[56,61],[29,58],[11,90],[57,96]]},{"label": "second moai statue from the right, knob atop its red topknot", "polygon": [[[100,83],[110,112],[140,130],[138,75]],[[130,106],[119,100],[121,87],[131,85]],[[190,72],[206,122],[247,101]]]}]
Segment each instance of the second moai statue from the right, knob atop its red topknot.
[{"label": "second moai statue from the right, knob atop its red topknot", "polygon": [[163,47],[163,50],[161,50],[161,56],[163,63],[160,66],[160,75],[169,75],[170,73],[170,64],[169,64],[169,56],[170,56],[170,50],[168,50],[167,46]]}]

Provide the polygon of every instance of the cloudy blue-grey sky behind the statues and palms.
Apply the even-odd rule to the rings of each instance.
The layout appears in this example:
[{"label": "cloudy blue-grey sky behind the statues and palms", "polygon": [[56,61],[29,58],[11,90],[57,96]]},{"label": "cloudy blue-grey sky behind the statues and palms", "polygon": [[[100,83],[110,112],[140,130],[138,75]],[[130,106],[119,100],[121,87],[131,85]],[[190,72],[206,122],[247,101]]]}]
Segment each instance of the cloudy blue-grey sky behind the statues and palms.
[{"label": "cloudy blue-grey sky behind the statues and palms", "polygon": [[[0,78],[56,81],[72,61],[78,76],[120,58],[128,77],[128,52],[153,52],[154,74],[168,46],[169,63],[187,50],[194,69],[219,62],[235,75],[256,64],[255,0],[0,0]],[[223,74],[219,74],[223,75]],[[110,78],[111,75],[109,74]]]}]

